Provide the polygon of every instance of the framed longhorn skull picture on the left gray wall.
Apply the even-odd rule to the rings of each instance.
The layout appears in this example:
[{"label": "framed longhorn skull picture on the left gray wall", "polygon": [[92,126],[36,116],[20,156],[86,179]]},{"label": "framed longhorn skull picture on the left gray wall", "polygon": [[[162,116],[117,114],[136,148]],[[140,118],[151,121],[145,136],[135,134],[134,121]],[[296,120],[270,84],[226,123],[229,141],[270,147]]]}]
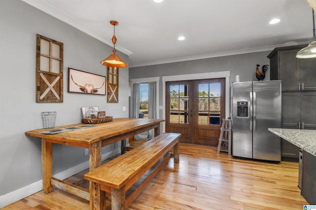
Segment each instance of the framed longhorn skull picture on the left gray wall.
[{"label": "framed longhorn skull picture on the left gray wall", "polygon": [[68,92],[105,95],[105,76],[68,68]]}]

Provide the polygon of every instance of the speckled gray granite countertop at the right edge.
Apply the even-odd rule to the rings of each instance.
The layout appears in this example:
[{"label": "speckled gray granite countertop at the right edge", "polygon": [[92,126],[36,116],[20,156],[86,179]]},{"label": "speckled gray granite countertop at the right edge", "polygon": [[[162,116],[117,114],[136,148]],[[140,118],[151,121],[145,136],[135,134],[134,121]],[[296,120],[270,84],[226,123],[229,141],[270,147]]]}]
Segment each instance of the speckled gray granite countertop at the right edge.
[{"label": "speckled gray granite countertop at the right edge", "polygon": [[316,156],[316,130],[269,128],[270,132]]}]

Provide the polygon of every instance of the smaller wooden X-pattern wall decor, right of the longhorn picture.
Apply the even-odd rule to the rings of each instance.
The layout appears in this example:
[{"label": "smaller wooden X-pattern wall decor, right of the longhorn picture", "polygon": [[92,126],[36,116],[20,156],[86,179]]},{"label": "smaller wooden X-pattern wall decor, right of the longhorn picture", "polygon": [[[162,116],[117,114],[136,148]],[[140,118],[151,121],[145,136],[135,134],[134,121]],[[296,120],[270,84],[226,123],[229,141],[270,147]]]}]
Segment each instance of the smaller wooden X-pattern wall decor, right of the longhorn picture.
[{"label": "smaller wooden X-pattern wall decor, right of the longhorn picture", "polygon": [[118,68],[108,67],[108,103],[118,103]]}]

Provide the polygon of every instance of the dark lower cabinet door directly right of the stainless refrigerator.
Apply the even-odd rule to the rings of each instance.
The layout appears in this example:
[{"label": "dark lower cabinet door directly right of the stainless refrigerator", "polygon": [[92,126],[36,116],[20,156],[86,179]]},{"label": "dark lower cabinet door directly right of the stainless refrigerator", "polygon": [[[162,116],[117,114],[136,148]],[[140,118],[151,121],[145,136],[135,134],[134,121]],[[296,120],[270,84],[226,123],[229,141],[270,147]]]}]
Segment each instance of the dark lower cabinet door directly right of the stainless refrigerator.
[{"label": "dark lower cabinet door directly right of the stainless refrigerator", "polygon": [[300,127],[300,92],[282,92],[282,128]]}]

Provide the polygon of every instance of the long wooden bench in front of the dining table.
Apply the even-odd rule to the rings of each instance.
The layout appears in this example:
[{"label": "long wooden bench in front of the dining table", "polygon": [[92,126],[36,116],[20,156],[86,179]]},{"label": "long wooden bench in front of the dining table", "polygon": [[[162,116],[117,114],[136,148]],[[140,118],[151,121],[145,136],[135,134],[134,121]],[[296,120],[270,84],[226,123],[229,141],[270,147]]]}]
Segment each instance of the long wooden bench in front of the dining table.
[{"label": "long wooden bench in front of the dining table", "polygon": [[90,210],[105,209],[106,192],[112,209],[124,210],[168,162],[173,148],[179,164],[181,134],[163,133],[84,175],[90,181]]}]

